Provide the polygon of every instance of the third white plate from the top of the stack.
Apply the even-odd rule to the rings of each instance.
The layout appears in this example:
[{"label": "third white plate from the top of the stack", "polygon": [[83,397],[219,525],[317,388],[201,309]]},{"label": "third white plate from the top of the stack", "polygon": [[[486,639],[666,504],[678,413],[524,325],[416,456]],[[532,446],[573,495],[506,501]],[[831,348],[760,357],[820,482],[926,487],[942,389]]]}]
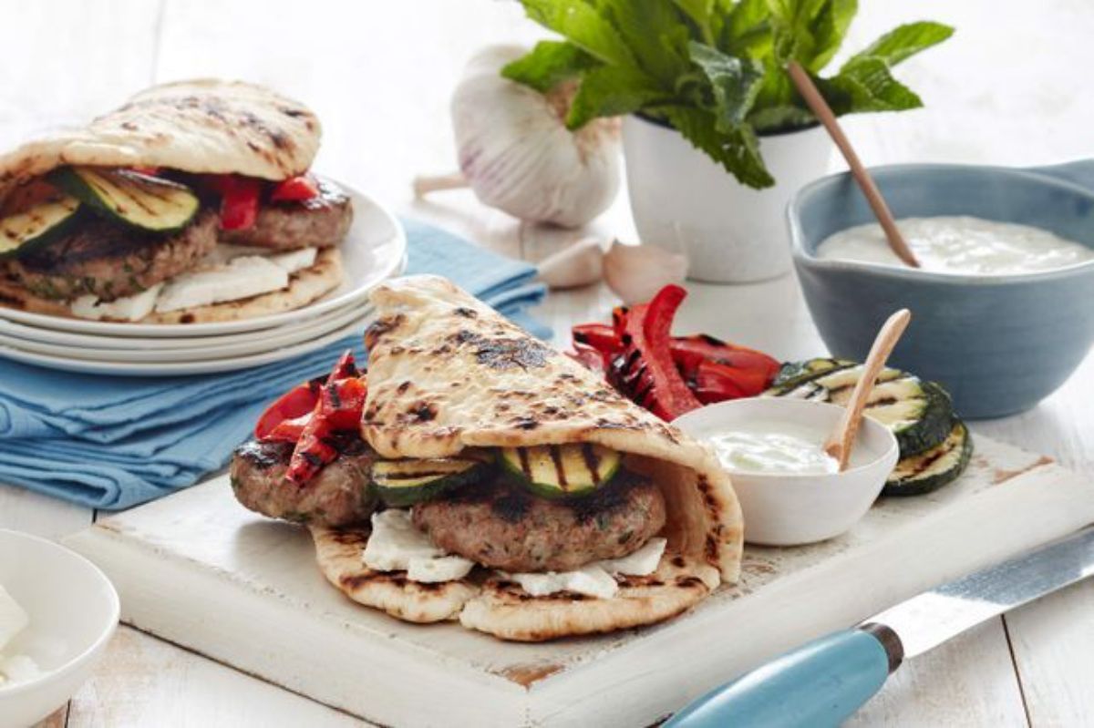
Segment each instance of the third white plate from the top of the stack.
[{"label": "third white plate from the top of the stack", "polygon": [[[40,341],[9,337],[3,333],[0,333],[0,347],[11,347],[33,354],[125,364],[211,361],[234,359],[248,354],[261,354],[310,341],[333,331],[341,331],[351,324],[365,321],[370,312],[371,308],[354,305],[339,309],[336,312],[336,316],[323,317],[315,322],[307,321],[306,326],[291,327],[286,331],[282,331],[280,328],[268,329],[260,332],[265,333],[265,337],[244,341],[237,341],[236,337],[232,336],[212,337],[213,339],[219,339],[221,343],[201,347],[168,348],[153,344],[128,350],[97,349],[93,347],[43,343]],[[364,332],[363,324],[361,332]],[[152,341],[156,340],[153,339]],[[185,340],[161,339],[160,341],[176,343]]]}]

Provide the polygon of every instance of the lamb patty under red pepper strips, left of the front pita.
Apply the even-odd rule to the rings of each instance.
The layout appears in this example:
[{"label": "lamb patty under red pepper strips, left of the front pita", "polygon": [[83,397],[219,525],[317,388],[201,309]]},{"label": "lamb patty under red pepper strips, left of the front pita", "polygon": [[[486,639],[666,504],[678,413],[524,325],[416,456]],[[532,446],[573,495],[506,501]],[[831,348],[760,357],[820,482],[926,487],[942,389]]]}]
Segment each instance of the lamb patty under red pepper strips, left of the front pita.
[{"label": "lamb patty under red pepper strips, left of the front pita", "polygon": [[375,454],[356,433],[336,442],[341,450],[338,458],[302,486],[284,477],[292,443],[244,443],[235,449],[229,469],[236,500],[256,513],[298,524],[368,521],[376,505],[369,488]]}]

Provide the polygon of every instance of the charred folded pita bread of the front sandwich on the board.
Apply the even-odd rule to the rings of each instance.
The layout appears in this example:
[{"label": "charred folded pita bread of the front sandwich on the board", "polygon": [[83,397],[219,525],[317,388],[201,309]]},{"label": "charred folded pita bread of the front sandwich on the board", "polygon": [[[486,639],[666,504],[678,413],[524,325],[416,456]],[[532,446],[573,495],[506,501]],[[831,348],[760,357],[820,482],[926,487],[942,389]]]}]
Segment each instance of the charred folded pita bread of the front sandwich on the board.
[{"label": "charred folded pita bread of the front sandwich on the board", "polygon": [[[459,620],[505,639],[542,641],[649,624],[735,582],[743,524],[714,454],[617,395],[569,356],[546,347],[451,282],[412,277],[372,294],[380,318],[365,334],[369,394],[361,433],[387,458],[451,457],[466,447],[595,443],[625,454],[665,496],[668,548],[657,572],[626,577],[612,599],[533,598],[487,578],[463,592]],[[357,531],[363,539],[368,529]],[[426,598],[349,589],[319,545],[328,579],[351,598],[399,615]],[[360,563],[360,554],[357,556]],[[442,610],[447,611],[447,610]]]}]

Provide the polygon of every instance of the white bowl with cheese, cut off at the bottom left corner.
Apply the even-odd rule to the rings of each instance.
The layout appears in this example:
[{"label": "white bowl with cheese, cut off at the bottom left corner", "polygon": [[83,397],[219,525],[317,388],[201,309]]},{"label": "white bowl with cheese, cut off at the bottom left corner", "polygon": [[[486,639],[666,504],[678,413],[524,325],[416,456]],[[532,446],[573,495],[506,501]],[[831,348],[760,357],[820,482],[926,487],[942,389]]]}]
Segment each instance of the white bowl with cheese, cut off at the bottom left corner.
[{"label": "white bowl with cheese, cut off at the bottom left corner", "polygon": [[118,624],[118,592],[90,561],[28,533],[0,529],[0,584],[31,622],[5,655],[30,656],[44,674],[0,686],[0,728],[22,728],[65,705]]}]

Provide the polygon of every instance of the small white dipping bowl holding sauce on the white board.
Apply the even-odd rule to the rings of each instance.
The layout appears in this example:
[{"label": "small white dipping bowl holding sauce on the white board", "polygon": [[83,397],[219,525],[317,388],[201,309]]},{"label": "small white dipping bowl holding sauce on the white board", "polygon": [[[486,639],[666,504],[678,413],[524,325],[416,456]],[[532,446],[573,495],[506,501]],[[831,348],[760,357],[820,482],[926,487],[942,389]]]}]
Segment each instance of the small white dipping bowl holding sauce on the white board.
[{"label": "small white dipping bowl holding sauce on the white board", "polygon": [[[677,418],[673,424],[710,442],[725,432],[747,432],[749,423],[790,423],[806,430],[819,446],[843,408],[827,402],[778,397],[735,399]],[[737,472],[726,468],[745,518],[745,541],[799,545],[847,531],[870,509],[899,459],[888,427],[863,418],[847,470],[838,473]]]}]

